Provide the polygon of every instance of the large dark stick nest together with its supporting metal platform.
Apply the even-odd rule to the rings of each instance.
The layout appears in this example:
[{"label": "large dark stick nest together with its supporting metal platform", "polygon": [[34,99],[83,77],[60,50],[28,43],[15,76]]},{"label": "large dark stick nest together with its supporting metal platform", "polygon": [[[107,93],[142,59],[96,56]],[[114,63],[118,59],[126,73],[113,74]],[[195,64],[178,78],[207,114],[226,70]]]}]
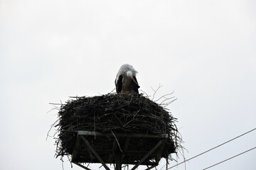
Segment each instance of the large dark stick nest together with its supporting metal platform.
[{"label": "large dark stick nest together with its supporting metal platform", "polygon": [[171,113],[140,94],[75,97],[58,113],[56,157],[71,162],[134,164],[153,168],[176,153],[178,130]]}]

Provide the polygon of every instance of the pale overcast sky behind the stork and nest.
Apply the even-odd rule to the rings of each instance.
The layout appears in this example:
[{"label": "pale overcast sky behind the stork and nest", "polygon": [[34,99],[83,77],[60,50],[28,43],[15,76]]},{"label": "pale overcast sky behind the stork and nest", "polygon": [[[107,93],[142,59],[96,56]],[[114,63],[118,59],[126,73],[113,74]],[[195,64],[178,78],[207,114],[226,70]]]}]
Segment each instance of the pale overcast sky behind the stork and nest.
[{"label": "pale overcast sky behind the stork and nest", "polygon": [[[0,0],[0,169],[81,169],[55,159],[46,136],[58,111],[49,103],[109,93],[126,63],[149,96],[159,84],[156,98],[174,91],[168,108],[186,159],[256,128],[255,8],[252,0]],[[256,130],[173,169],[205,169],[253,147]],[[211,169],[256,169],[255,157],[253,149]]]}]

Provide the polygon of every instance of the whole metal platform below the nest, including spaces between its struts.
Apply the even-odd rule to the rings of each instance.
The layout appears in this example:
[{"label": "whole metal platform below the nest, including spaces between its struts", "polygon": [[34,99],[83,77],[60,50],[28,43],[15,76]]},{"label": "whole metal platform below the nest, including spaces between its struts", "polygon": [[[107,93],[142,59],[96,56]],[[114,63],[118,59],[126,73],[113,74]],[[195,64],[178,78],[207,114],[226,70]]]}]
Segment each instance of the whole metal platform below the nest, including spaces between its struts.
[{"label": "whole metal platform below the nest, including spaces between its struts", "polygon": [[132,170],[140,165],[152,169],[159,164],[167,138],[168,134],[78,131],[71,162],[87,170],[81,163],[100,163],[107,170],[107,164],[115,164],[116,170],[121,170],[122,164],[134,164]]}]

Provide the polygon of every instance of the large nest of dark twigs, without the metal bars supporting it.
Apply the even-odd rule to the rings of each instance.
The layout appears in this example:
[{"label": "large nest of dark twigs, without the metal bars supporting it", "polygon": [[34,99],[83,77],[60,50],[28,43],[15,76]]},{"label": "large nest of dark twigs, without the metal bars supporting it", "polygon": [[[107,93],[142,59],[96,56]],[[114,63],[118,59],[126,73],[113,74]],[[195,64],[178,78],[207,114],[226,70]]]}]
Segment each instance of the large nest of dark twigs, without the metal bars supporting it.
[{"label": "large nest of dark twigs, without the metal bars supporting it", "polygon": [[[107,149],[112,149],[113,141],[124,148],[127,145],[127,137],[117,137],[117,134],[134,135],[168,135],[161,154],[151,154],[147,163],[164,157],[168,159],[171,153],[175,153],[179,147],[180,138],[175,125],[174,118],[167,109],[154,103],[141,94],[107,94],[94,97],[75,97],[63,104],[58,112],[58,137],[56,157],[72,155],[75,149],[78,131],[101,132],[104,134],[116,134],[114,137],[88,136],[87,140],[92,143],[102,159],[112,164],[113,159]],[[136,154],[126,154],[124,164],[134,164],[144,155],[143,151],[150,150],[156,145],[156,139],[130,138],[129,145],[125,146],[127,151],[136,151]],[[86,146],[80,146],[80,155],[76,162],[97,163]],[[119,146],[120,147],[120,146]],[[127,152],[128,153],[128,152]]]}]

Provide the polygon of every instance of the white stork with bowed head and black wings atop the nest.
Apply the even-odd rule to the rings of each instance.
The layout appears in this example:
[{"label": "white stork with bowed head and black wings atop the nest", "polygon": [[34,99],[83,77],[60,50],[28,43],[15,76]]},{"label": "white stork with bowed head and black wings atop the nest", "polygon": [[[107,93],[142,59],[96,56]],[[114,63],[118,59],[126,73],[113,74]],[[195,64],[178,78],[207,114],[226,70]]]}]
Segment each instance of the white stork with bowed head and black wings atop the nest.
[{"label": "white stork with bowed head and black wings atop the nest", "polygon": [[135,91],[139,94],[139,84],[136,79],[137,71],[130,64],[123,64],[119,72],[117,73],[117,78],[114,81],[117,93],[124,93],[129,91]]}]

